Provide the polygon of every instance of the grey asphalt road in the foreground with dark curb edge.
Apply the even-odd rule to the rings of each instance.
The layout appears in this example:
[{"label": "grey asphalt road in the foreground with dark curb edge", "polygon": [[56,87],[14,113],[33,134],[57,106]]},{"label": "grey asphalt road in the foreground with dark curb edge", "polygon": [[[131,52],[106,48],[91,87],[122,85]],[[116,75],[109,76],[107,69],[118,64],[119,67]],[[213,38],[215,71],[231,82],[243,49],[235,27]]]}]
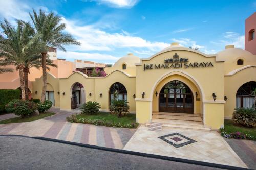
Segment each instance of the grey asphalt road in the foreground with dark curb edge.
[{"label": "grey asphalt road in the foreground with dark curb edge", "polygon": [[17,136],[0,136],[0,169],[217,169]]}]

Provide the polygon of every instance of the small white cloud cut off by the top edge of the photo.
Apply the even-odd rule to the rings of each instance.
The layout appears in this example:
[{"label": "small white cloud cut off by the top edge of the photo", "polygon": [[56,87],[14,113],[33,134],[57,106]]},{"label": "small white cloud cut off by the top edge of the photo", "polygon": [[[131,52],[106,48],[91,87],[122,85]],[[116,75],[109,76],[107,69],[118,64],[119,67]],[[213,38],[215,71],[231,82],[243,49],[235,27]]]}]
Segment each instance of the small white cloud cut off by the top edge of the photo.
[{"label": "small white cloud cut off by the top edge of the photo", "polygon": [[138,3],[138,0],[91,0],[99,4],[106,4],[115,8],[131,8]]}]

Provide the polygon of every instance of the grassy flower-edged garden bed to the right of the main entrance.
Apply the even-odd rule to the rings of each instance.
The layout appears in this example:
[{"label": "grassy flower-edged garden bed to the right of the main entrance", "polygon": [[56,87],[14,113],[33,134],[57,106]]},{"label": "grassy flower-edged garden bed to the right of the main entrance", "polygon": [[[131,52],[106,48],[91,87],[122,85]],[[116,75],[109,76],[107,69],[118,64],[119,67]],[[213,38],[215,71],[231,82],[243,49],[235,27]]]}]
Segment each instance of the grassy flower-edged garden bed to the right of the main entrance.
[{"label": "grassy flower-edged garden bed to the right of the main entrance", "polygon": [[226,138],[256,140],[256,128],[235,125],[233,120],[224,120],[224,129],[221,128],[220,132]]}]

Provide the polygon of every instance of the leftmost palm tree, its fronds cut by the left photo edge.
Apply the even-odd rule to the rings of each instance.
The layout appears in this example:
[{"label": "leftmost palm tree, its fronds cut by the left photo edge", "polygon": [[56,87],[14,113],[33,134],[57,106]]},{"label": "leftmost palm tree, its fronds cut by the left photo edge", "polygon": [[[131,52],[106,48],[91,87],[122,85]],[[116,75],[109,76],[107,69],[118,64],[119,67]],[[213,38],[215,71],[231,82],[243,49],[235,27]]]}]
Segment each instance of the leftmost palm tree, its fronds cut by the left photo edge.
[{"label": "leftmost palm tree, its fronds cut by the left photo edge", "polygon": [[24,68],[26,60],[45,50],[40,43],[40,35],[35,34],[29,23],[17,21],[17,27],[12,26],[6,19],[0,22],[3,32],[0,35],[1,65],[14,65],[19,71],[22,99],[25,100]]}]

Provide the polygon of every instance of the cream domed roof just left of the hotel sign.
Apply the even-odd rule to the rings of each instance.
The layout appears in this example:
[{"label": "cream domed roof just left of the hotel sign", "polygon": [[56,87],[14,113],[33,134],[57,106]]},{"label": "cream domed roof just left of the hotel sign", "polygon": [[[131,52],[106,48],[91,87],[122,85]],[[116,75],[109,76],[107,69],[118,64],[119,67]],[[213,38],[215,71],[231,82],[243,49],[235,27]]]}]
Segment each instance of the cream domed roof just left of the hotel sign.
[{"label": "cream domed roof just left of the hotel sign", "polygon": [[122,68],[123,64],[126,64],[127,67],[135,67],[135,63],[139,63],[140,58],[133,55],[132,53],[128,53],[126,56],[121,57],[115,62],[113,67]]}]

